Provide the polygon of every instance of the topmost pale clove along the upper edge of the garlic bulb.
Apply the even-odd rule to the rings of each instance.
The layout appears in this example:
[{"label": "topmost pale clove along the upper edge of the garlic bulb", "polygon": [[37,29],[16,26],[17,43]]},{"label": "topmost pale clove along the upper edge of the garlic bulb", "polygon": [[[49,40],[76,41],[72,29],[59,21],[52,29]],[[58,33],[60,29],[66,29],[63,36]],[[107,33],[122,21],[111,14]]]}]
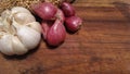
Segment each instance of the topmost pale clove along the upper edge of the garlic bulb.
[{"label": "topmost pale clove along the upper edge of the garlic bulb", "polygon": [[30,14],[30,12],[27,9],[22,8],[22,7],[12,8],[11,11],[12,11],[12,14],[15,14],[15,13],[29,13]]}]

